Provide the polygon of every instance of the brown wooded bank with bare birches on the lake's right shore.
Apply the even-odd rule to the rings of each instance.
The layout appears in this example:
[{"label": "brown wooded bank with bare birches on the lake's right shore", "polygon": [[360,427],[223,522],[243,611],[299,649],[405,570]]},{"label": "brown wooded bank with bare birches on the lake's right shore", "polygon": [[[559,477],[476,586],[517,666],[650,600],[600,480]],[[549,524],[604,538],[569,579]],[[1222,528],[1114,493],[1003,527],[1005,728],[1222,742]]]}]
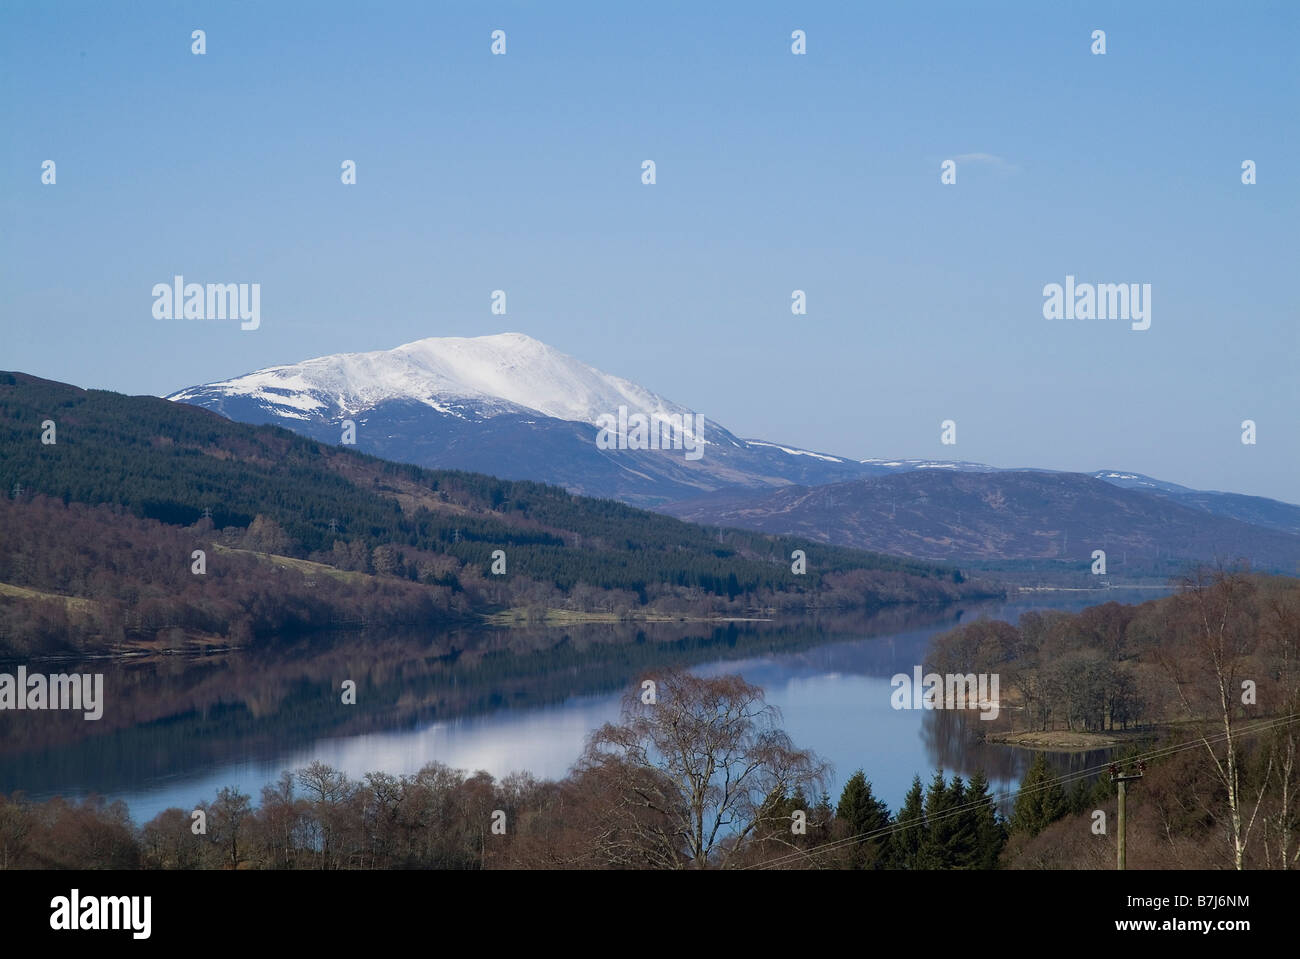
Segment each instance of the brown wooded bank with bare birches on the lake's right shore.
[{"label": "brown wooded bank with bare birches on the lake's right shore", "polygon": [[[1300,815],[1300,582],[1200,568],[1141,606],[1028,612],[935,637],[927,668],[1001,676],[1002,711],[975,734],[1052,748],[1114,743],[1149,768],[1128,799],[1130,868],[1296,865]],[[1004,864],[1109,868],[1091,829],[1114,785],[1067,794],[1031,769]],[[1020,826],[1020,828],[1017,828]]]}]

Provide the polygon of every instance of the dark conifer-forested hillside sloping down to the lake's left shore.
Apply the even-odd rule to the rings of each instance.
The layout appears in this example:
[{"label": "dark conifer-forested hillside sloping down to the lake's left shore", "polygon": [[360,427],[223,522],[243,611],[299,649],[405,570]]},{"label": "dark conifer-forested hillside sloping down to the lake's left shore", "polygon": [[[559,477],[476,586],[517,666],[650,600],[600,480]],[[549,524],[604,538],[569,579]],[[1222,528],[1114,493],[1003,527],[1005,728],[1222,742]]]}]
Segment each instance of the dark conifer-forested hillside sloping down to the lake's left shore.
[{"label": "dark conifer-forested hillside sloping down to the lake's left shore", "polygon": [[0,655],[511,607],[734,616],[994,591],[946,565],[391,464],[21,373],[0,373]]}]

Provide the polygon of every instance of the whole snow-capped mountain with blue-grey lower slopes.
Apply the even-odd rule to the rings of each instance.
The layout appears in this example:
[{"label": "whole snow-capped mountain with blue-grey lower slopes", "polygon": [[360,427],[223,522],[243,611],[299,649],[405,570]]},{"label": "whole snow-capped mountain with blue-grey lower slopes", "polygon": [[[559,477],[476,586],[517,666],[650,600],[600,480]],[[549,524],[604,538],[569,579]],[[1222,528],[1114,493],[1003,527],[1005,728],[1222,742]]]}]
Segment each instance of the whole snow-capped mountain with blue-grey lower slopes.
[{"label": "whole snow-capped mountain with blue-grey lower slopes", "polygon": [[[351,420],[363,452],[556,483],[638,505],[723,487],[816,485],[872,472],[852,459],[740,439],[712,420],[696,418],[697,411],[520,333],[322,356],[168,399],[330,443],[341,441],[343,422]],[[656,430],[680,424],[682,446],[702,444],[703,455],[597,444],[602,417],[614,420],[614,431],[627,439],[636,415]]]}]

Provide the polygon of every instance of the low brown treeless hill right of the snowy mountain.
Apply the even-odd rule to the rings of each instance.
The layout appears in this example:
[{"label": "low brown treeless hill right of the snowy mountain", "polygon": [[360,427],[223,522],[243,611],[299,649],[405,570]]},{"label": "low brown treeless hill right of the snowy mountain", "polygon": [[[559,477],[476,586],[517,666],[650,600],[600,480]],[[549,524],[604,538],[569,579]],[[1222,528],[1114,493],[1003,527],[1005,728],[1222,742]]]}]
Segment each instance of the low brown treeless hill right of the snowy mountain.
[{"label": "low brown treeless hill right of the snowy mountain", "polygon": [[723,524],[926,560],[1063,560],[1093,550],[1130,568],[1235,561],[1296,572],[1300,535],[1213,515],[1173,495],[1079,473],[918,470],[774,492],[715,492],[666,508]]}]

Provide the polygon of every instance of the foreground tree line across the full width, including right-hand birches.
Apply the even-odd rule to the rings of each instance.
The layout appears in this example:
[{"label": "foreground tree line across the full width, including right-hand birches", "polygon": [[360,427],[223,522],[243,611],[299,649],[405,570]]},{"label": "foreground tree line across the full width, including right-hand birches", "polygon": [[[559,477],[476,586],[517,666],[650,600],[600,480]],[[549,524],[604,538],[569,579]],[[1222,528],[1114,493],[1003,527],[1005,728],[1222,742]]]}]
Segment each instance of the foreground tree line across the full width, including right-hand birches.
[{"label": "foreground tree line across the full width, including right-hand birches", "polygon": [[[1300,663],[1274,665],[1282,719],[1262,726],[1216,697],[1234,686],[1252,606],[1273,608],[1264,645],[1300,648],[1296,591],[1252,593],[1219,573],[1180,594],[1162,647],[1183,671],[1199,720],[1162,730],[1130,799],[1135,868],[1292,868]],[[1249,602],[1248,602],[1249,600]],[[1242,630],[1242,632],[1239,632]],[[1236,638],[1230,638],[1235,635]],[[1208,643],[1208,645],[1206,645]],[[1202,725],[1205,724],[1205,725]],[[1210,734],[1208,725],[1216,730]],[[915,777],[890,812],[863,771],[832,804],[829,767],[796,746],[763,690],[740,676],[659,671],[632,685],[620,717],[594,730],[562,780],[495,780],[429,763],[354,780],[322,763],[263,787],[226,787],[194,810],[136,828],[122,803],[0,799],[6,868],[1112,868],[1115,794],[1108,771],[1054,773],[1037,752],[1004,817],[983,773]],[[1098,816],[1100,813],[1100,816]]]}]

